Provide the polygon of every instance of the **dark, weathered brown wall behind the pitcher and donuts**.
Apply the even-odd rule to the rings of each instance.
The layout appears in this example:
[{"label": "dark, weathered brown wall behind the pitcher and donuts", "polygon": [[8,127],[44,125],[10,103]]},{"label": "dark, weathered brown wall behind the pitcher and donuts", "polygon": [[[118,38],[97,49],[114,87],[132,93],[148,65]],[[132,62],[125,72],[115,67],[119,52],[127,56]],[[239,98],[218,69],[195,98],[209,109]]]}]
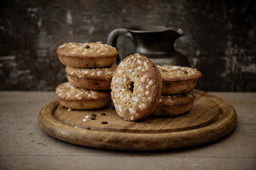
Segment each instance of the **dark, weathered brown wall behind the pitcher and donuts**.
[{"label": "dark, weathered brown wall behind the pitcher and donuts", "polygon": [[[114,28],[147,24],[183,29],[175,47],[203,73],[197,88],[256,91],[255,11],[253,0],[1,1],[0,90],[54,90],[66,81],[59,45],[107,42]],[[132,48],[119,38],[119,54]]]}]

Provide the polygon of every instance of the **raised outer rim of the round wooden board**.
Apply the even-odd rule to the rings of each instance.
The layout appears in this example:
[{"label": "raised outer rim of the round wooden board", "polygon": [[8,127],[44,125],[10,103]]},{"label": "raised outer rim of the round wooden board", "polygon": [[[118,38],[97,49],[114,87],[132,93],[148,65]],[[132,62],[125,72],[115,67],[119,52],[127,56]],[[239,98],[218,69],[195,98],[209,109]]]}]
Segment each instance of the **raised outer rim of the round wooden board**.
[{"label": "raised outer rim of the round wooden board", "polygon": [[[212,94],[206,95],[219,99]],[[227,102],[225,103],[230,105]],[[215,128],[210,125],[199,129],[174,133],[97,132],[74,128],[57,122],[52,116],[57,105],[58,102],[56,100],[49,102],[38,115],[38,123],[46,133],[56,139],[69,143],[114,150],[170,150],[205,144],[230,133],[236,127],[237,121],[236,111],[230,105],[229,116],[219,121],[216,124],[217,128],[216,125]],[[199,135],[198,130],[200,130]],[[188,137],[188,133],[190,133],[190,137]],[[207,134],[207,138],[205,134]]]}]

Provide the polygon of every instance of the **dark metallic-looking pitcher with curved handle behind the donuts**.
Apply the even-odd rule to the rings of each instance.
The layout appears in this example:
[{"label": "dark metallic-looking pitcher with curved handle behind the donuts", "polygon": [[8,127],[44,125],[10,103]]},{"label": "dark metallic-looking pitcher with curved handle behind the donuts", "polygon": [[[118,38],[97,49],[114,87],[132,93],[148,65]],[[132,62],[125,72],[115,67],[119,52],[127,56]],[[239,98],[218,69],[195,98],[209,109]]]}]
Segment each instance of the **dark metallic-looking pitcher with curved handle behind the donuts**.
[{"label": "dark metallic-looking pitcher with curved handle behind the donuts", "polygon": [[[156,65],[190,66],[189,60],[173,47],[174,41],[183,36],[183,30],[180,28],[166,28],[166,26],[118,28],[109,33],[108,44],[116,47],[119,36],[129,37],[136,47],[134,54],[143,54]],[[122,56],[117,60],[122,60]]]}]

